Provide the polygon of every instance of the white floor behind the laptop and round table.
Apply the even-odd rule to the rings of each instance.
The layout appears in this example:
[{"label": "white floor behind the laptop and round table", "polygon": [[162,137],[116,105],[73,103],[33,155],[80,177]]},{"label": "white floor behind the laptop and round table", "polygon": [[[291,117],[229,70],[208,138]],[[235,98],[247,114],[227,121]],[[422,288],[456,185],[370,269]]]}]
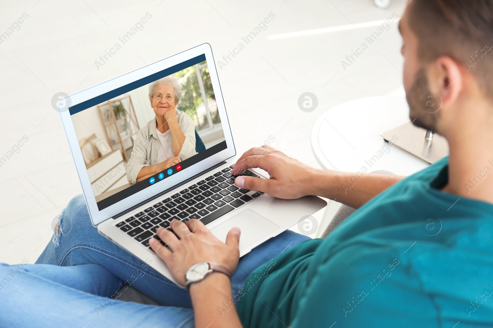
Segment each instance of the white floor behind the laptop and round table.
[{"label": "white floor behind the laptop and round table", "polygon": [[[341,60],[368,43],[365,37],[377,26],[270,36],[383,21],[393,12],[400,15],[403,5],[403,0],[392,0],[382,10],[372,0],[1,2],[0,34],[23,13],[29,17],[0,44],[0,157],[9,156],[0,167],[0,262],[34,263],[50,242],[53,218],[81,192],[60,119],[50,104],[56,92],[88,88],[204,42],[211,44],[219,65],[223,55],[245,43],[242,37],[272,13],[275,18],[266,30],[218,68],[235,145],[242,153],[271,136],[273,147],[319,167],[309,137],[324,111],[401,88],[397,23],[346,69]],[[152,17],[143,30],[97,68],[95,60],[146,13]],[[297,105],[306,91],[318,98],[311,113]],[[23,136],[29,139],[20,151],[9,152]],[[337,203],[329,208],[335,211]],[[321,219],[321,213],[316,216]]]}]

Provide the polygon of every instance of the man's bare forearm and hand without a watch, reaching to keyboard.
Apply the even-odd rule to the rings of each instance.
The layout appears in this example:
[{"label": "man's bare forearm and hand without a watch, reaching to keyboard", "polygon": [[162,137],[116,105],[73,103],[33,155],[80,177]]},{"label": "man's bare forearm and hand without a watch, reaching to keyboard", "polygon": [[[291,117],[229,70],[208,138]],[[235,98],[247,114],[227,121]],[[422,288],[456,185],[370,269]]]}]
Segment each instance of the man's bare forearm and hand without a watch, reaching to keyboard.
[{"label": "man's bare forearm and hand without a watch, reaching to keyboard", "polygon": [[265,170],[270,179],[238,177],[235,183],[241,188],[262,191],[283,199],[316,195],[337,200],[355,209],[404,178],[317,170],[269,146],[246,151],[231,173],[238,175],[248,168]]}]

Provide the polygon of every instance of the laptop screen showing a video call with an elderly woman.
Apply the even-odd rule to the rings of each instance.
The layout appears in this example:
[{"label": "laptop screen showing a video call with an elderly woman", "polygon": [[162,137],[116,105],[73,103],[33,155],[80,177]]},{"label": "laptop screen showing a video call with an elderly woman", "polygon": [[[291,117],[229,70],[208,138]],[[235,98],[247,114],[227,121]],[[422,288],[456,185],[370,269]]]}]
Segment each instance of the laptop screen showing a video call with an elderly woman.
[{"label": "laptop screen showing a video call with an elderly woman", "polygon": [[205,54],[69,111],[99,210],[227,148]]}]

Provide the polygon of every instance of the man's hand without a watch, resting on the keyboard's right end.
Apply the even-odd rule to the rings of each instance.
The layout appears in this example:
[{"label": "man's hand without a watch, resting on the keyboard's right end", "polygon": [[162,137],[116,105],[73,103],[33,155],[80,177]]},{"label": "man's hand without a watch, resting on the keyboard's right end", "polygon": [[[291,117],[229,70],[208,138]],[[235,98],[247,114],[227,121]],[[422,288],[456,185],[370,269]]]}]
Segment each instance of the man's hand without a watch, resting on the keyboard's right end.
[{"label": "man's hand without a watch, resting on the keyboard's right end", "polygon": [[272,147],[264,145],[246,151],[231,173],[238,175],[248,168],[265,170],[270,179],[237,177],[235,184],[241,188],[262,191],[283,199],[313,195],[312,180],[317,170]]}]

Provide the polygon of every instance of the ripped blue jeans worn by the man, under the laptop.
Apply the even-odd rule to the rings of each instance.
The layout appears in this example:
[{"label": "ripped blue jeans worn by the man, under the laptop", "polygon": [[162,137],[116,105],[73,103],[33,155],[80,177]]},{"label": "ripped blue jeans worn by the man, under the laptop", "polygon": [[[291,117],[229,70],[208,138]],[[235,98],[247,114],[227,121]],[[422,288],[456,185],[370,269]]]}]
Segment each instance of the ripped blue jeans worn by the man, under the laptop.
[{"label": "ripped blue jeans worn by the man, under the laptop", "polygon": [[[0,265],[0,327],[193,327],[187,290],[101,236],[81,195],[59,226],[36,264]],[[233,295],[253,269],[306,239],[285,231],[255,247],[231,277]],[[128,285],[162,306],[116,300]]]}]

